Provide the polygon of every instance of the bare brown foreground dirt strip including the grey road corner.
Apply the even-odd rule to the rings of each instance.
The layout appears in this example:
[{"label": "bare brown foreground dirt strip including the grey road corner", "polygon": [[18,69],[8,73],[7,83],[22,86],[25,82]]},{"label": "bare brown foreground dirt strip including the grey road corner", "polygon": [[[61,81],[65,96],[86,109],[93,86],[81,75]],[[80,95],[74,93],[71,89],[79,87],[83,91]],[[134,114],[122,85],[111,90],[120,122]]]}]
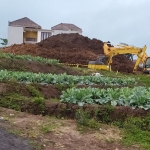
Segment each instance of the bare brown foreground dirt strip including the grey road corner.
[{"label": "bare brown foreground dirt strip including the grey road corner", "polygon": [[[27,140],[22,140],[16,135],[34,141],[34,148],[38,150],[137,149],[137,147],[123,147],[120,145],[120,130],[108,125],[102,125],[102,130],[88,131],[81,134],[77,130],[75,120],[35,116],[5,108],[0,108],[0,117],[3,117],[3,120],[0,121],[1,150],[32,149]],[[8,134],[3,128],[16,135]]]}]

